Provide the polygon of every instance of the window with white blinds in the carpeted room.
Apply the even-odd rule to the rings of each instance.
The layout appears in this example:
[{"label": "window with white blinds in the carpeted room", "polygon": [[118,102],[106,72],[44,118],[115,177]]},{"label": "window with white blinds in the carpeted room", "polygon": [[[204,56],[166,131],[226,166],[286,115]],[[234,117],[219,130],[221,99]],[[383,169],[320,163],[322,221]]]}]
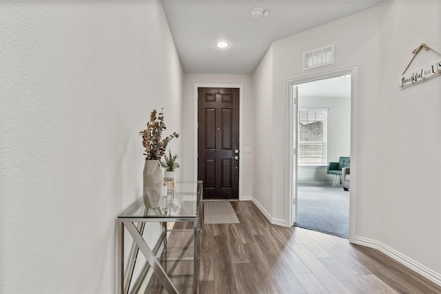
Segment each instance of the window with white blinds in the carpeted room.
[{"label": "window with white blinds in the carpeted room", "polygon": [[298,164],[327,164],[328,109],[298,110]]}]

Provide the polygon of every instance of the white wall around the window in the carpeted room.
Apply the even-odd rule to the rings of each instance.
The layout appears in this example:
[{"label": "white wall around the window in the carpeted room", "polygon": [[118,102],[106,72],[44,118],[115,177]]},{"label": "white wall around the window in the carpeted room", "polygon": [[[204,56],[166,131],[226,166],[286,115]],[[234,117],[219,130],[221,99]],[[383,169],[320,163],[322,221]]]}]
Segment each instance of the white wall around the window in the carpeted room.
[{"label": "white wall around the window in the carpeted room", "polygon": [[[351,97],[311,97],[302,95],[302,85],[298,89],[299,108],[327,108],[328,162],[338,162],[340,156],[350,156],[351,143]],[[334,181],[334,176],[326,174],[325,167],[299,166],[298,184],[325,184]]]}]

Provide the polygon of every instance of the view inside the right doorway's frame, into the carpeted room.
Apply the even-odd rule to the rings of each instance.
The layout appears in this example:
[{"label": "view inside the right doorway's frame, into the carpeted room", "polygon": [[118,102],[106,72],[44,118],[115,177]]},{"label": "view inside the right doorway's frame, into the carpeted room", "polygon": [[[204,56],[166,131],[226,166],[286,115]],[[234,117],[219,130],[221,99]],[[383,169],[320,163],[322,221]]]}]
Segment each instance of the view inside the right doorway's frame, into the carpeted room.
[{"label": "view inside the right doorway's frame, into the carpeted room", "polygon": [[328,164],[350,158],[351,76],[302,83],[297,102],[296,226],[348,238],[349,191]]}]

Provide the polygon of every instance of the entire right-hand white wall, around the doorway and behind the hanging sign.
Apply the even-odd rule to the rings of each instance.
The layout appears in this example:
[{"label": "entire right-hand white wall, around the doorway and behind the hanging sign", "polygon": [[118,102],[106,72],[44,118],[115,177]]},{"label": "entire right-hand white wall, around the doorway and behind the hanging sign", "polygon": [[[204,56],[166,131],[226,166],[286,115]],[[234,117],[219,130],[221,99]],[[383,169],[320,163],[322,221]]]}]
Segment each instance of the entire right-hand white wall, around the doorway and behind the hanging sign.
[{"label": "entire right-hand white wall, around the doorway and behind the hanging sign", "polygon": [[[438,12],[440,1],[386,1],[274,42],[268,51],[274,64],[265,67],[274,83],[268,116],[273,169],[259,171],[256,180],[272,178],[273,205],[263,206],[272,218],[285,218],[285,157],[280,154],[285,154],[286,81],[356,66],[356,148],[351,150],[356,242],[379,248],[441,284],[441,78],[398,87],[418,45],[441,51]],[[302,52],[333,43],[334,65],[302,71]],[[423,50],[413,65],[435,59],[438,54]]]}]

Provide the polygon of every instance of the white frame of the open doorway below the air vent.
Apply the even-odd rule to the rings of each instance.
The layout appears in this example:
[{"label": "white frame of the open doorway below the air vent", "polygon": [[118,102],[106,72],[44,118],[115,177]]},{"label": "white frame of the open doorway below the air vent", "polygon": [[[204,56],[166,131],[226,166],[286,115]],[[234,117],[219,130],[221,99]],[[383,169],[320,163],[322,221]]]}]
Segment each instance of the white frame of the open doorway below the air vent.
[{"label": "white frame of the open doorway below the air vent", "polygon": [[[293,151],[297,149],[297,140],[292,138],[292,107],[293,107],[293,92],[292,89],[296,85],[307,83],[311,81],[318,81],[325,78],[335,78],[337,76],[344,76],[345,74],[351,75],[351,189],[349,191],[349,242],[354,243],[356,238],[356,183],[357,183],[357,66],[346,67],[340,70],[332,72],[326,72],[322,74],[314,74],[311,76],[305,76],[302,78],[293,78],[287,80],[287,134],[286,134],[286,162],[290,162],[287,165],[286,184],[285,184],[285,216],[287,227],[291,227],[294,224],[293,219],[293,206],[294,206],[294,189],[297,189],[297,174],[294,174],[296,170],[293,167]],[[296,133],[297,134],[297,133]],[[296,178],[293,180],[294,175]]]}]

